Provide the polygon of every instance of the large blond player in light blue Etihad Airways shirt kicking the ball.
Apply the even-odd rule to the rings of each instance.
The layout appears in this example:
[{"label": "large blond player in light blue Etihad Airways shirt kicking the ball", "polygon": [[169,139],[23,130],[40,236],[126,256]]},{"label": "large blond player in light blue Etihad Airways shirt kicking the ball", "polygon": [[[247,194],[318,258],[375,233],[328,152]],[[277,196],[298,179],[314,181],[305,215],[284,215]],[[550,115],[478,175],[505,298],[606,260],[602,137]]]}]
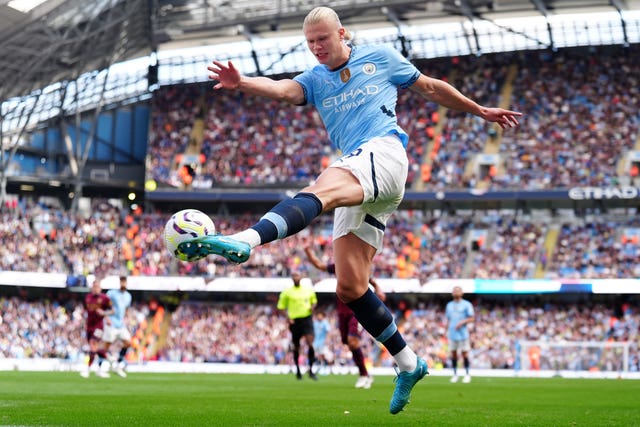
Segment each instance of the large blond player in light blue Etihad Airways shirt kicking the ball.
[{"label": "large blond player in light blue Etihad Airways shirt kicking the ball", "polygon": [[388,218],[404,197],[409,168],[409,136],[396,117],[398,90],[410,89],[427,101],[474,114],[502,128],[517,126],[521,113],[477,104],[450,84],[422,74],[391,47],[347,43],[351,35],[331,8],[311,10],[302,30],[319,64],[293,79],[250,77],[230,61],[217,60],[208,67],[209,78],[217,81],[214,89],[315,106],[342,157],[248,229],[232,236],[196,238],[181,243],[179,250],[192,260],[215,254],[231,262],[245,262],[253,248],[296,234],[323,212],[335,210],[336,292],[393,356],[399,372],[389,412],[397,414],[428,373],[425,360],[407,345],[393,315],[368,286],[373,257],[382,249]]}]

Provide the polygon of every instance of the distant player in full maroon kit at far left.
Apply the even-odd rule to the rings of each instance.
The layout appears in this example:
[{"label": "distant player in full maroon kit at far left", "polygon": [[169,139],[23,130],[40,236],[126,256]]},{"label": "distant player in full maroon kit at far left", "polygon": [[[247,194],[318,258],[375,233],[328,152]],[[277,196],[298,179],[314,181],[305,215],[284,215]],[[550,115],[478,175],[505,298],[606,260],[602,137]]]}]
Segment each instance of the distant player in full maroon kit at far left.
[{"label": "distant player in full maroon kit at far left", "polygon": [[[101,360],[106,360],[107,352],[102,346],[102,331],[104,325],[104,317],[113,313],[111,308],[111,300],[102,293],[100,288],[100,280],[96,279],[91,286],[91,292],[84,298],[84,308],[87,311],[87,341],[89,341],[89,362],[86,369],[80,372],[84,378],[89,378],[89,372],[96,355]],[[103,372],[100,368],[96,371],[96,375],[106,378],[108,372]]]}]

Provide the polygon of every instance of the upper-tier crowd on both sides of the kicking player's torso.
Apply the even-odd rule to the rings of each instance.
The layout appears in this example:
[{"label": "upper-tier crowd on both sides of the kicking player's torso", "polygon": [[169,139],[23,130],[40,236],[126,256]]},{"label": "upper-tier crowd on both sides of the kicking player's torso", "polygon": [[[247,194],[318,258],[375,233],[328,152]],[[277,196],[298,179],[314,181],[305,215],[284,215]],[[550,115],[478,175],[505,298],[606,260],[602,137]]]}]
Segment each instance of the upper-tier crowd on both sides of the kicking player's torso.
[{"label": "upper-tier crowd on both sides of the kicking player's torso", "polygon": [[[610,186],[621,177],[637,177],[637,171],[620,172],[618,165],[639,137],[640,85],[631,72],[640,67],[639,49],[591,47],[418,61],[424,72],[451,80],[479,102],[503,102],[526,115],[518,130],[503,136],[473,116],[447,111],[440,117],[435,104],[401,91],[397,116],[411,137],[408,185],[422,179],[433,190],[476,188],[482,182],[493,190],[540,190]],[[147,170],[158,182],[180,186],[175,158],[193,138],[193,120],[200,116],[205,161],[196,179],[206,182],[205,188],[304,185],[329,164],[333,150],[312,109],[214,93],[210,86],[166,87],[155,96]],[[497,156],[486,170],[476,161],[481,154]],[[422,174],[424,166],[428,174]]]}]

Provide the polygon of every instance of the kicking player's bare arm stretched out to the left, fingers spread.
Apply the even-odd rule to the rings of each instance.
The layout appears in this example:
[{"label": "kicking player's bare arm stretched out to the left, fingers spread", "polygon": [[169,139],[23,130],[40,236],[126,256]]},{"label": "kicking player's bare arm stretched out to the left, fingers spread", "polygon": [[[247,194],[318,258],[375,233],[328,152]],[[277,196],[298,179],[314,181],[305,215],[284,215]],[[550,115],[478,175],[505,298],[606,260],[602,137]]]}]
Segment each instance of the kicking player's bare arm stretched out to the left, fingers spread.
[{"label": "kicking player's bare arm stretched out to the left, fingers spread", "polygon": [[264,96],[301,105],[305,102],[302,86],[292,79],[273,80],[268,77],[242,75],[231,61],[213,61],[207,67],[209,79],[217,81],[214,89],[237,89],[250,95]]}]

